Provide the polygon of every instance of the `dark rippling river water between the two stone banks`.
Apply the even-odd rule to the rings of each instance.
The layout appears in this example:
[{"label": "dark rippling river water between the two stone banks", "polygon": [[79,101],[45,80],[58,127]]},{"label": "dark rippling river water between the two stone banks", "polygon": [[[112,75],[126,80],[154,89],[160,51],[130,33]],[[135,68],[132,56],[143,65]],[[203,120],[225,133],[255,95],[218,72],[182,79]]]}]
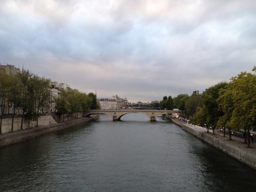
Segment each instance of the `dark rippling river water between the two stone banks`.
[{"label": "dark rippling river water between the two stone banks", "polygon": [[0,191],[256,191],[256,171],[168,120],[99,120],[0,148]]}]

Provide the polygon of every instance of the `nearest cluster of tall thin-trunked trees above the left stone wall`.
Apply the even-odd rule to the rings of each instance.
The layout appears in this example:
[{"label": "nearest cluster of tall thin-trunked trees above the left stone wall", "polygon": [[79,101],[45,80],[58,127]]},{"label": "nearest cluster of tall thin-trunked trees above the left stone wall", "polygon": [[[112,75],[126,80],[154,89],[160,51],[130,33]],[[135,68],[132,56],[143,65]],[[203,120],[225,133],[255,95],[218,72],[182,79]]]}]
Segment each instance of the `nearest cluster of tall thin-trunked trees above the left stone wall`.
[{"label": "nearest cluster of tall thin-trunked trees above the left stone wall", "polygon": [[50,82],[50,79],[38,77],[26,70],[14,76],[0,74],[0,133],[2,133],[3,114],[7,106],[13,107],[11,132],[13,132],[15,110],[18,108],[22,110],[20,129],[23,129],[24,114],[28,120],[28,127],[31,120],[36,120],[36,126],[38,126],[39,110],[48,107],[51,101]]}]

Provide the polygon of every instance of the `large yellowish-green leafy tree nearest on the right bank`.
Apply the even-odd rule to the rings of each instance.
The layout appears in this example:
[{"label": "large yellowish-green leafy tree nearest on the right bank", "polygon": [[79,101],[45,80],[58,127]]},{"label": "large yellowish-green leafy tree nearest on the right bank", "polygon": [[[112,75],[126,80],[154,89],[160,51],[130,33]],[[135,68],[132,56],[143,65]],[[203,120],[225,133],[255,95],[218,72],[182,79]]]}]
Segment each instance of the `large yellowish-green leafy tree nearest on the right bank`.
[{"label": "large yellowish-green leafy tree nearest on the right bank", "polygon": [[256,129],[256,75],[241,72],[230,80],[227,87],[220,90],[218,103],[224,114],[218,123],[237,131],[247,129],[247,145],[250,147],[249,133]]}]

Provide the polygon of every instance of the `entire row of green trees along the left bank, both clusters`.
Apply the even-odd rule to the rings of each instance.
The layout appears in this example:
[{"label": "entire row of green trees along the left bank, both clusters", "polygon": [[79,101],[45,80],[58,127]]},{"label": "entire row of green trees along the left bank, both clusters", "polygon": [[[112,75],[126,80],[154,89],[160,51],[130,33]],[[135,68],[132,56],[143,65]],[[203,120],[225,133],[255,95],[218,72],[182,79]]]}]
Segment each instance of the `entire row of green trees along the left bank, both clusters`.
[{"label": "entire row of green trees along the left bank, both clusters", "polygon": [[[20,129],[23,129],[24,117],[28,120],[28,128],[32,120],[36,120],[36,127],[38,127],[39,111],[49,109],[50,104],[54,102],[51,96],[51,79],[38,77],[28,70],[22,70],[14,76],[0,73],[0,102],[0,134],[2,133],[3,114],[7,106],[13,108],[11,132],[13,132],[16,109],[22,110]],[[76,113],[89,108],[97,109],[99,104],[93,93],[86,95],[62,90],[60,99],[56,100],[56,107],[58,113],[62,114],[64,112]]]}]

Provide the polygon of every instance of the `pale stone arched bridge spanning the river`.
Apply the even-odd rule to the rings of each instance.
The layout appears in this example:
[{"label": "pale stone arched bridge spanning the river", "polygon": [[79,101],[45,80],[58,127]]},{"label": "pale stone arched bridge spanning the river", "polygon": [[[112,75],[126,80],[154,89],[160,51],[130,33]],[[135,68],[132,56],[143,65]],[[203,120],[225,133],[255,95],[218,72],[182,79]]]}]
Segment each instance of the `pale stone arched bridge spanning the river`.
[{"label": "pale stone arched bridge spanning the river", "polygon": [[127,110],[89,110],[84,114],[84,117],[89,117],[92,114],[95,113],[103,113],[106,114],[108,116],[110,116],[111,118],[113,118],[113,120],[120,120],[121,117],[127,113],[142,113],[146,116],[148,116],[148,118],[151,121],[155,121],[156,117],[159,115],[164,115],[164,114],[172,114],[172,113],[177,113],[179,115],[182,115],[184,117],[187,117],[187,115],[184,113],[184,111],[181,110],[133,110],[133,109],[127,109]]}]

